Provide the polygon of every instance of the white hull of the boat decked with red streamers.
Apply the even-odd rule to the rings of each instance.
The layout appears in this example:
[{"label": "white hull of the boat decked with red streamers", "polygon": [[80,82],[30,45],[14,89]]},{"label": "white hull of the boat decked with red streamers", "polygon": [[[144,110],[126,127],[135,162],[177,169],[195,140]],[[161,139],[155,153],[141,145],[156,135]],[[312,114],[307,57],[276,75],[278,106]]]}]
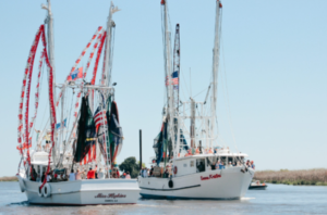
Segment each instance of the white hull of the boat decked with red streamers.
[{"label": "white hull of the boat decked with red streamers", "polygon": [[[17,176],[28,202],[46,205],[96,205],[96,204],[135,204],[140,198],[137,181],[133,179],[93,179],[62,182],[49,182],[51,194],[39,197],[40,182],[26,180]],[[21,186],[22,188],[22,186]]]}]

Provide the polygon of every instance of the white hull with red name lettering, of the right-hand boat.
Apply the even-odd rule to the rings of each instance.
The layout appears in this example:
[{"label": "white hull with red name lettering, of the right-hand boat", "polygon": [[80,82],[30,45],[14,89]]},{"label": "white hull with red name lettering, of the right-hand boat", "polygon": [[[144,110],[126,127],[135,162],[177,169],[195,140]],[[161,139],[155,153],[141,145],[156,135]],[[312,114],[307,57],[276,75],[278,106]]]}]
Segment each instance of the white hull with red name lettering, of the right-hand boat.
[{"label": "white hull with red name lettering, of the right-hand boat", "polygon": [[169,178],[138,177],[143,198],[169,199],[240,199],[245,195],[254,170],[241,172],[241,167],[215,169]]}]

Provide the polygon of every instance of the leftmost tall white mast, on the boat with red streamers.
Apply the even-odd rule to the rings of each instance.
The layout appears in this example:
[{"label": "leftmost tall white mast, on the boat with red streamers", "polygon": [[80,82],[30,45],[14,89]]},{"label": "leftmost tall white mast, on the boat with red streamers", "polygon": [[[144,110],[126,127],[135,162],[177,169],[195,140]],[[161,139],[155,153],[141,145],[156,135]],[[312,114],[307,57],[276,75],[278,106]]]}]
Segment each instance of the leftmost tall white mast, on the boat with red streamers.
[{"label": "leftmost tall white mast, on the boat with red streamers", "polygon": [[[50,61],[50,65],[52,67],[52,76],[53,76],[53,83],[52,83],[52,97],[53,99],[56,99],[56,66],[55,66],[55,40],[53,40],[53,16],[52,16],[52,10],[51,10],[51,1],[50,0],[47,0],[48,1],[48,5],[41,5],[43,9],[47,10],[48,11],[48,15],[47,15],[47,18],[45,20],[45,24],[47,24],[47,31],[48,31],[48,58],[49,58],[49,61]],[[50,68],[48,67],[48,77],[49,77],[49,74],[50,74]],[[50,101],[49,101],[50,102]],[[56,103],[56,101],[55,101]],[[51,106],[51,105],[49,105]],[[50,113],[51,113],[51,110],[50,110]],[[50,116],[50,125],[52,124],[52,117]],[[56,126],[55,126],[55,131],[53,131],[53,140],[56,139],[55,143],[57,142],[57,130],[56,130]],[[57,146],[53,147],[55,150],[52,150],[52,159],[53,159],[53,163],[57,164]]]}]

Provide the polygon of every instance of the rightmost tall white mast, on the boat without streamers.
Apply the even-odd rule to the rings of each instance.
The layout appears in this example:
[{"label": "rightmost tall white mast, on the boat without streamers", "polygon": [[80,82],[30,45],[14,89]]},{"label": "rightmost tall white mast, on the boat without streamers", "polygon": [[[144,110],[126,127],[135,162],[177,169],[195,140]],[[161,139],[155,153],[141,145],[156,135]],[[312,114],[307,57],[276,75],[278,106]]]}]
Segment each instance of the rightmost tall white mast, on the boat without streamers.
[{"label": "rightmost tall white mast, on the boat without streamers", "polygon": [[215,23],[215,45],[213,50],[213,96],[211,96],[211,122],[210,122],[210,148],[213,148],[214,129],[216,126],[216,105],[217,105],[217,85],[218,85],[218,65],[219,65],[219,46],[220,46],[220,25],[221,25],[220,0],[216,4],[216,23]]}]

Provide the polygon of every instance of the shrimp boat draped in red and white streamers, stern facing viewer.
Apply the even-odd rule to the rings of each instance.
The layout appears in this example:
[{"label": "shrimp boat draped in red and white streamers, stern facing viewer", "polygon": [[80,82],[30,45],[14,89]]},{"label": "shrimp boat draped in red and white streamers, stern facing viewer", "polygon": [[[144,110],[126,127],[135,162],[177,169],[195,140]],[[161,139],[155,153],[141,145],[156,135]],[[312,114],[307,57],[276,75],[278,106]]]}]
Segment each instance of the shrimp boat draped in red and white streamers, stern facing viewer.
[{"label": "shrimp boat draped in red and white streamers, stern facing viewer", "polygon": [[[21,162],[16,177],[21,191],[26,193],[31,204],[134,204],[140,198],[137,180],[113,178],[111,173],[123,141],[114,101],[116,84],[111,83],[112,38],[116,27],[112,15],[119,9],[111,2],[107,29],[97,28],[74,63],[66,80],[59,85],[55,80],[53,17],[50,0],[41,8],[48,11],[45,21],[47,35],[45,25],[41,25],[29,51],[19,109],[17,150]],[[43,49],[37,75],[35,113],[28,122],[33,64],[40,39]],[[89,58],[83,71],[77,66],[88,48],[90,48]],[[104,68],[99,84],[96,85],[97,68],[102,52]],[[87,71],[94,55],[96,60],[93,76],[87,80]],[[44,62],[48,69],[44,69]],[[49,119],[40,130],[37,130],[35,126],[41,93],[43,78],[40,77],[44,71],[48,74],[46,85],[49,94],[45,110],[49,112]],[[58,94],[56,89],[60,89]],[[76,102],[73,102],[74,98]],[[60,123],[57,123],[58,121]],[[37,137],[34,138],[33,135]],[[36,140],[33,141],[34,139]],[[35,149],[32,149],[32,146],[35,146]],[[76,172],[88,170],[92,167],[97,172],[99,179],[85,179],[83,173],[76,174],[80,175],[78,177],[71,177],[75,176]],[[69,174],[71,174],[70,180],[65,177]]]}]

